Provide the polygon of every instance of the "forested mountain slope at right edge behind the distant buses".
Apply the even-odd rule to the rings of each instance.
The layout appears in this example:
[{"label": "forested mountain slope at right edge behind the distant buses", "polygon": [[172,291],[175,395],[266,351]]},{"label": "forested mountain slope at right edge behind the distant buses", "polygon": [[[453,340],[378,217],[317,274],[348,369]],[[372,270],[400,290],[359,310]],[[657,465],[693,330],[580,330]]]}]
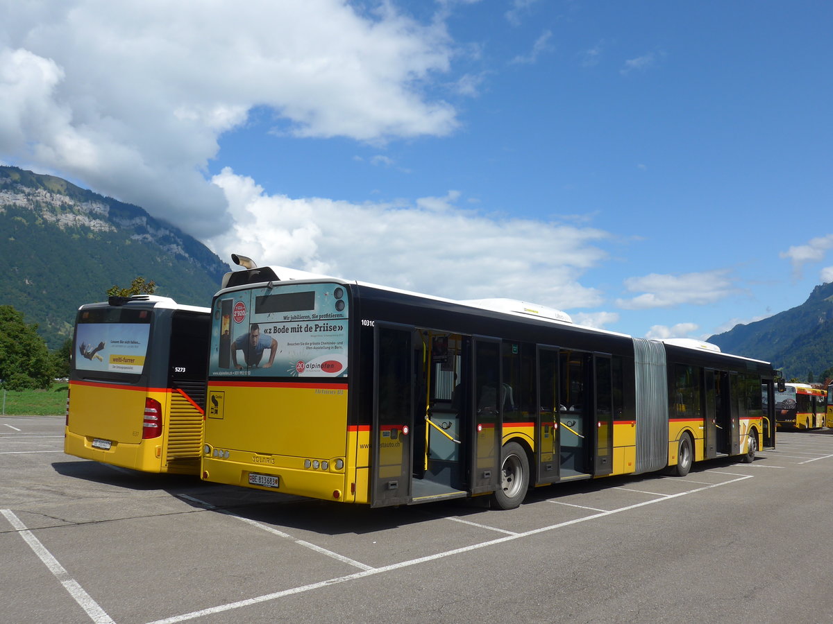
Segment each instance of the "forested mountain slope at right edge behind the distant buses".
[{"label": "forested mountain slope at right edge behind the distant buses", "polygon": [[709,342],[727,353],[765,359],[786,379],[818,382],[833,367],[833,283],[816,286],[795,308],[750,323],[736,325]]}]

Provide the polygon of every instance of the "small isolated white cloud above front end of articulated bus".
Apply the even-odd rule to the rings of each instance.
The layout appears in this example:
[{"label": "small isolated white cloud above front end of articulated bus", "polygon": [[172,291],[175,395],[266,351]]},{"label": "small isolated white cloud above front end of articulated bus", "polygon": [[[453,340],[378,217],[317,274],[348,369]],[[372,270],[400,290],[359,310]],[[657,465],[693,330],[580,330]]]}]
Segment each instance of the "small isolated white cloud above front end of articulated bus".
[{"label": "small isolated white cloud above front end of articulated bus", "polygon": [[631,277],[625,280],[625,286],[629,292],[643,294],[630,300],[616,300],[616,305],[624,310],[671,308],[684,304],[708,305],[738,292],[728,270],[683,275],[651,273],[644,277]]}]

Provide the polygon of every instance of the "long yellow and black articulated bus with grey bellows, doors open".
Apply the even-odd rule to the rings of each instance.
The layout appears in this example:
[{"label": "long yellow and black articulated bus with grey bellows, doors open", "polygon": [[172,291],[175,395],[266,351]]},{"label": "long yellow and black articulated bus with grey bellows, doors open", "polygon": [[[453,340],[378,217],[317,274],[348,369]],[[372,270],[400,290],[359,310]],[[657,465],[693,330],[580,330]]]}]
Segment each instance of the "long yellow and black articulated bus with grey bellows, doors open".
[{"label": "long yellow and black articulated bus with grey bellows, doors open", "polygon": [[[212,307],[202,478],[372,507],[666,469],[774,444],[774,371],[510,300],[261,267]],[[763,389],[763,393],[761,392]]]}]

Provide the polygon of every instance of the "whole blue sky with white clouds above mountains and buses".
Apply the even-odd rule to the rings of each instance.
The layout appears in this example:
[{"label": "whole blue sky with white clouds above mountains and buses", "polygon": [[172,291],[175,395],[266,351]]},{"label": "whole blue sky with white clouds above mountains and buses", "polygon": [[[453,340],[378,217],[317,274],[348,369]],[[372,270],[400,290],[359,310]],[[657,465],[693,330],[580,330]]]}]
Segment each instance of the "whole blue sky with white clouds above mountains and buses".
[{"label": "whole blue sky with white clouds above mountains and buses", "polygon": [[224,260],[655,338],[833,280],[831,2],[0,11],[0,161]]}]

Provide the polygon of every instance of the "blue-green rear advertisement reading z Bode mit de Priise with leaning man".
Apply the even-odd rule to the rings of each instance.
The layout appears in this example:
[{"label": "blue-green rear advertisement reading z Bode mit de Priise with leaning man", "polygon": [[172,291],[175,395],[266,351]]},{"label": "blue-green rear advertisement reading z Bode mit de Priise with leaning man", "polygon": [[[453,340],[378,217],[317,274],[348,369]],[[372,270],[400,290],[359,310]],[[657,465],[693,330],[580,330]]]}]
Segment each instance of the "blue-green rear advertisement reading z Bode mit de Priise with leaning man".
[{"label": "blue-green rear advertisement reading z Bode mit de Priise with leaning man", "polygon": [[347,377],[347,289],[282,284],[214,302],[211,374]]}]

